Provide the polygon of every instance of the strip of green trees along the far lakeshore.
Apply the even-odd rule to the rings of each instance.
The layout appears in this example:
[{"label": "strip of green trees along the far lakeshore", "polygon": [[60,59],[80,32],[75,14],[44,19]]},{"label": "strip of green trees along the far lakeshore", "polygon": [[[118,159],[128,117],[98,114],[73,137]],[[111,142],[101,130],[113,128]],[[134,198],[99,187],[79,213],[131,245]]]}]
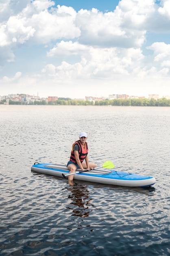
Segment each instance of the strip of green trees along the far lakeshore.
[{"label": "strip of green trees along the far lakeshore", "polygon": [[[4,100],[0,101],[1,104],[4,104]],[[46,101],[31,101],[28,102],[16,102],[9,100],[9,105],[47,105]],[[59,98],[57,101],[49,101],[48,105],[75,105],[75,106],[161,106],[169,107],[170,99],[160,98],[160,99],[106,99],[103,101],[83,101],[70,98]]]}]

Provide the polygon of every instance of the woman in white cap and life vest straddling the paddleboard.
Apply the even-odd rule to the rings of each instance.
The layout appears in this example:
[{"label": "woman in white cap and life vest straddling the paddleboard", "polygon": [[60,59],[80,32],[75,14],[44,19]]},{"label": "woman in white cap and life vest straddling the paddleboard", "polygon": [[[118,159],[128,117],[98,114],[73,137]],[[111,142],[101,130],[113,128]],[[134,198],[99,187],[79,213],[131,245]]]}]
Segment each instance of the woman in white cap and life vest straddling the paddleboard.
[{"label": "woman in white cap and life vest straddling the paddleboard", "polygon": [[[79,136],[79,140],[74,142],[72,145],[72,152],[70,156],[70,161],[67,164],[68,170],[70,173],[74,173],[77,168],[81,168],[81,170],[90,170],[97,167],[94,163],[89,163],[88,159],[88,145],[87,145],[87,133],[81,132]],[[85,162],[83,162],[85,159]],[[74,175],[69,175],[68,180],[72,181]]]}]

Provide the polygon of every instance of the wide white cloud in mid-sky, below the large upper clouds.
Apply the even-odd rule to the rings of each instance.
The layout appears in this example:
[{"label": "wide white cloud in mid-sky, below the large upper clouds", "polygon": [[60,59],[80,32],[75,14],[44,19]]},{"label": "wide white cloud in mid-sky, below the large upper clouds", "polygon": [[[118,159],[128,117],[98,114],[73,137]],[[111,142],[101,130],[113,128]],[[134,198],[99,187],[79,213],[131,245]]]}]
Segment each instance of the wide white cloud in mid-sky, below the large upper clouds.
[{"label": "wide white cloud in mid-sky, below the large upper clouds", "polygon": [[141,66],[144,60],[141,49],[87,47],[72,41],[58,43],[50,50],[48,56],[55,57],[60,54],[79,55],[79,63],[69,64],[64,61],[56,67],[56,70],[62,70],[63,78],[69,76],[74,79],[75,77],[86,79],[87,76],[94,79],[107,78],[108,75],[110,77],[128,75],[137,65]]}]

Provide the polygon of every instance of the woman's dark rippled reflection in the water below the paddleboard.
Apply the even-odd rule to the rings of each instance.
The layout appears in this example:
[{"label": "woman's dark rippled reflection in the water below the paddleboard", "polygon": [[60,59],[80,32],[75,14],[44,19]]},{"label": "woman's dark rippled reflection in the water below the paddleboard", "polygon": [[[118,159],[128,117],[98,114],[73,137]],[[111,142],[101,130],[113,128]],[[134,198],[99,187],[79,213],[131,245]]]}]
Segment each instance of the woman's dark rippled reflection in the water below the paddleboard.
[{"label": "woman's dark rippled reflection in the water below the paddleboard", "polygon": [[92,212],[89,211],[88,204],[92,199],[89,199],[89,191],[87,190],[86,186],[83,186],[82,184],[72,184],[67,188],[69,191],[71,191],[71,195],[68,196],[68,198],[72,199],[71,207],[67,207],[68,209],[71,209],[73,211],[72,216],[78,216],[78,217],[88,217],[89,213]]}]

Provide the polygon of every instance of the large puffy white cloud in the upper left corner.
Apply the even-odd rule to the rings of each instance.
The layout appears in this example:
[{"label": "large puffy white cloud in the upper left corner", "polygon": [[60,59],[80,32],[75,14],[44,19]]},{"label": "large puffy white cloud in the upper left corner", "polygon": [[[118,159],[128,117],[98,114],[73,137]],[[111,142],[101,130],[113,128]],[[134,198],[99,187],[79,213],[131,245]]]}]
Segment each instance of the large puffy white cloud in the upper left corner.
[{"label": "large puffy white cloud in the upper left corner", "polygon": [[[19,2],[19,1],[18,1]],[[3,7],[10,13],[9,4]],[[60,7],[49,12],[54,5],[53,1],[33,1],[26,5],[20,12],[13,14],[1,23],[0,46],[27,43],[46,44],[51,40],[61,38],[74,38],[79,36],[80,31],[74,25],[76,11],[72,7]],[[13,39],[15,38],[15,40]]]}]

